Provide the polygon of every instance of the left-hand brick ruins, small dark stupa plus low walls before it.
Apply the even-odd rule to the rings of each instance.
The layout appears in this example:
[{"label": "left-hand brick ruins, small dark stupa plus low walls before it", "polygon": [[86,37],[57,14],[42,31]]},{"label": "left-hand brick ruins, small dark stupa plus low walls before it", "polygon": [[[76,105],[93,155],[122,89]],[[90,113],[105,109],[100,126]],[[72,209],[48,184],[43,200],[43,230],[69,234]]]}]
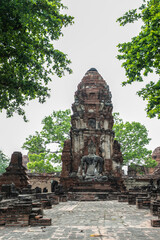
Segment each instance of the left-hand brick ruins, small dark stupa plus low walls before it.
[{"label": "left-hand brick ruins, small dark stupa plus low walls before it", "polygon": [[0,176],[0,226],[50,226],[51,219],[43,218],[43,209],[50,209],[66,196],[31,189],[22,154],[14,152],[6,172]]}]

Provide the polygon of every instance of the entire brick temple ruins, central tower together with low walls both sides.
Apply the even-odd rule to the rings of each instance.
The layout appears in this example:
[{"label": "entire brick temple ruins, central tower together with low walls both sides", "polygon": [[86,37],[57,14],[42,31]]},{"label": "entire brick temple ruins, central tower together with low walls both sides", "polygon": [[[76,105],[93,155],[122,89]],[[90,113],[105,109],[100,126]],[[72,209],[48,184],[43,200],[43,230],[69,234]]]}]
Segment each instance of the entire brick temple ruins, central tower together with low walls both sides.
[{"label": "entire brick temple ruins, central tower together with low walls both sides", "polygon": [[[0,226],[49,226],[51,219],[43,218],[43,210],[67,200],[118,200],[150,210],[158,217],[151,220],[151,226],[160,227],[160,147],[152,155],[159,163],[152,173],[122,178],[123,159],[114,140],[112,108],[109,86],[96,69],[90,69],[75,93],[60,184],[58,175],[27,174],[22,154],[14,152],[0,176]],[[51,179],[47,192],[43,183]]]}]

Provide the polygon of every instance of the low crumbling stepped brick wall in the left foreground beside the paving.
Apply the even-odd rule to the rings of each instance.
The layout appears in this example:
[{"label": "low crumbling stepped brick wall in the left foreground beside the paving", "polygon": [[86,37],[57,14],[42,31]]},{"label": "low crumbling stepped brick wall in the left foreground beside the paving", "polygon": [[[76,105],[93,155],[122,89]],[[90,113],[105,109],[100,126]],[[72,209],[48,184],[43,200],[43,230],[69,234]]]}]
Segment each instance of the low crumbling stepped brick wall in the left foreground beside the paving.
[{"label": "low crumbling stepped brick wall in the left foreground beside the paving", "polygon": [[32,200],[18,201],[18,199],[17,202],[12,200],[4,202],[6,206],[0,207],[0,226],[49,226],[51,219],[43,219],[43,209],[51,208],[49,203],[48,199],[33,203]]}]

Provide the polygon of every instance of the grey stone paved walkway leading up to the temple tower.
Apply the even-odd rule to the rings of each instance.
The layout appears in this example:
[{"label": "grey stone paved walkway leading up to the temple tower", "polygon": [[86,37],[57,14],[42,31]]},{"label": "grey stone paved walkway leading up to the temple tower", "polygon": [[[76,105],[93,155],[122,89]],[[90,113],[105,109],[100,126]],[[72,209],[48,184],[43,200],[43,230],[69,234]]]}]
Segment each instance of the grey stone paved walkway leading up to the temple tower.
[{"label": "grey stone paved walkway leading up to the temple tower", "polygon": [[44,211],[52,226],[0,227],[2,240],[159,240],[160,228],[150,225],[149,210],[117,201],[66,202]]}]

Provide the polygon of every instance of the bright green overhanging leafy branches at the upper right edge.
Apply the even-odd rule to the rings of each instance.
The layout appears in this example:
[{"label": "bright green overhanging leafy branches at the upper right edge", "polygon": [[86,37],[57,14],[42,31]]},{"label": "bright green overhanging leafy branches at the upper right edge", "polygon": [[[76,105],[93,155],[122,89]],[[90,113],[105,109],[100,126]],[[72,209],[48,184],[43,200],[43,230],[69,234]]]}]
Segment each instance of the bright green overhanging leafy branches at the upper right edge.
[{"label": "bright green overhanging leafy branches at the upper right edge", "polygon": [[[119,55],[123,60],[127,81],[122,86],[133,82],[144,81],[143,76],[155,72],[160,75],[160,1],[143,0],[144,4],[138,9],[126,12],[117,19],[121,26],[142,20],[141,31],[130,42],[118,45]],[[137,92],[143,100],[147,101],[146,112],[150,118],[160,118],[160,80],[150,81],[144,88]]]}]

